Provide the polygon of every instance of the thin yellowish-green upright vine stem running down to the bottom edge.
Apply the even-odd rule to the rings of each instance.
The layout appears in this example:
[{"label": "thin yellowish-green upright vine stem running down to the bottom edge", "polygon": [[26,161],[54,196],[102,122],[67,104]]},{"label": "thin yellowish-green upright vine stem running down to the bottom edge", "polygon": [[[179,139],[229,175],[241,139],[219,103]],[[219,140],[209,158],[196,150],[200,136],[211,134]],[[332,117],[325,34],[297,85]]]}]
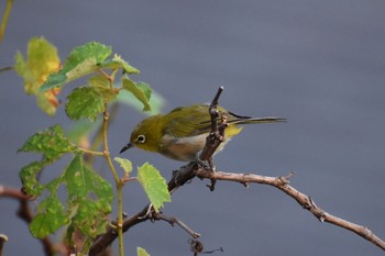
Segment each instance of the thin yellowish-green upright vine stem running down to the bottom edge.
[{"label": "thin yellowish-green upright vine stem running down to the bottom edge", "polygon": [[103,145],[105,145],[105,152],[103,155],[107,159],[107,163],[110,167],[110,170],[112,172],[113,179],[116,181],[117,187],[117,193],[118,193],[118,237],[119,237],[119,255],[124,256],[124,247],[123,247],[123,203],[122,203],[122,187],[123,182],[119,178],[117,170],[112,164],[112,159],[110,156],[110,149],[108,146],[108,120],[109,120],[109,113],[107,111],[107,104],[105,104],[105,112],[103,112],[103,124],[102,124],[102,131],[103,131]]}]

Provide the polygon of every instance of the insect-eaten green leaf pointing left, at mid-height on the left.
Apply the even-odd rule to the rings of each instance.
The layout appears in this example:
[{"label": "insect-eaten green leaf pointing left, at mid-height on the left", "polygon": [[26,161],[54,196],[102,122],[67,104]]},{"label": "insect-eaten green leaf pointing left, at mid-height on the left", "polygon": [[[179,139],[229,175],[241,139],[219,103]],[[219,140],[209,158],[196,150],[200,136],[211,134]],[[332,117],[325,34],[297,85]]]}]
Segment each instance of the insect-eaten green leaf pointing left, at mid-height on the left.
[{"label": "insect-eaten green leaf pointing left, at mid-height on the left", "polygon": [[76,151],[65,136],[61,125],[54,125],[48,130],[32,135],[18,152],[42,153],[45,160],[54,162],[65,153]]}]

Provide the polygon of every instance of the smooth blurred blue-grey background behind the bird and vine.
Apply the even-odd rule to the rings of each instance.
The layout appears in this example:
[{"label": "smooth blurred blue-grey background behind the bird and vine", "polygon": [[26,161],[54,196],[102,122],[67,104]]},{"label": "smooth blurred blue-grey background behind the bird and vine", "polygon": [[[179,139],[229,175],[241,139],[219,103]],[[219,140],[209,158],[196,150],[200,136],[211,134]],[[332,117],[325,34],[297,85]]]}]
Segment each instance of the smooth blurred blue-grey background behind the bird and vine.
[{"label": "smooth blurred blue-grey background behind the bird and vine", "polygon": [[[318,205],[385,238],[384,13],[381,0],[14,1],[0,66],[13,65],[15,52],[43,35],[63,60],[89,41],[111,45],[141,70],[136,80],[167,100],[164,111],[208,102],[223,86],[221,105],[289,122],[248,126],[216,157],[219,170],[294,170],[290,183]],[[0,76],[0,183],[20,187],[20,168],[38,156],[16,149],[37,130],[72,121],[63,107],[55,118],[41,112],[15,73]],[[64,102],[73,88],[64,89]],[[110,130],[113,155],[143,118],[120,108]],[[134,166],[150,160],[167,179],[182,165],[139,149],[124,156]],[[98,168],[111,178],[105,163]],[[223,247],[215,255],[383,255],[360,236],[320,223],[277,189],[218,182],[209,192],[206,183],[179,189],[164,213],[202,234],[207,251]],[[124,210],[141,210],[146,199],[139,185],[124,189]],[[0,199],[0,233],[10,240],[4,255],[42,255],[16,209],[18,202]],[[162,222],[138,225],[124,240],[127,255],[136,246],[154,256],[191,255],[188,235]]]}]

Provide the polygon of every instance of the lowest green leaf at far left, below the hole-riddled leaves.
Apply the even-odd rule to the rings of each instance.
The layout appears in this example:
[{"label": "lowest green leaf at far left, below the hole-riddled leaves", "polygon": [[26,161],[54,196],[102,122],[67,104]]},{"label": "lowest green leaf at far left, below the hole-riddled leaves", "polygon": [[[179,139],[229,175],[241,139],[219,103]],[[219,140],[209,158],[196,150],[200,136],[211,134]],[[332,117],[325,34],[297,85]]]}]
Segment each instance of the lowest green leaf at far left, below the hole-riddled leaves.
[{"label": "lowest green leaf at far left, below the hole-riddled leaves", "polygon": [[38,213],[30,223],[30,231],[34,237],[45,237],[62,226],[68,224],[68,216],[56,194],[46,198],[37,207]]}]

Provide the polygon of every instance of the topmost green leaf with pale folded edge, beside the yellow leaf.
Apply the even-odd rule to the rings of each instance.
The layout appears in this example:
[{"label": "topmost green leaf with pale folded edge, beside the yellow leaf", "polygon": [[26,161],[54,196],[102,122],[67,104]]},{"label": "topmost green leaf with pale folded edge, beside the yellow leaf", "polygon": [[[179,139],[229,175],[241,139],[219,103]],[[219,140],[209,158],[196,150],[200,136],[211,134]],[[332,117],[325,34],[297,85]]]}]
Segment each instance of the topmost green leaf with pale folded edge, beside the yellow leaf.
[{"label": "topmost green leaf with pale folded edge, beside the yellow leaf", "polygon": [[41,90],[61,87],[100,68],[100,64],[112,53],[111,46],[90,42],[74,48],[64,67],[44,82]]}]

